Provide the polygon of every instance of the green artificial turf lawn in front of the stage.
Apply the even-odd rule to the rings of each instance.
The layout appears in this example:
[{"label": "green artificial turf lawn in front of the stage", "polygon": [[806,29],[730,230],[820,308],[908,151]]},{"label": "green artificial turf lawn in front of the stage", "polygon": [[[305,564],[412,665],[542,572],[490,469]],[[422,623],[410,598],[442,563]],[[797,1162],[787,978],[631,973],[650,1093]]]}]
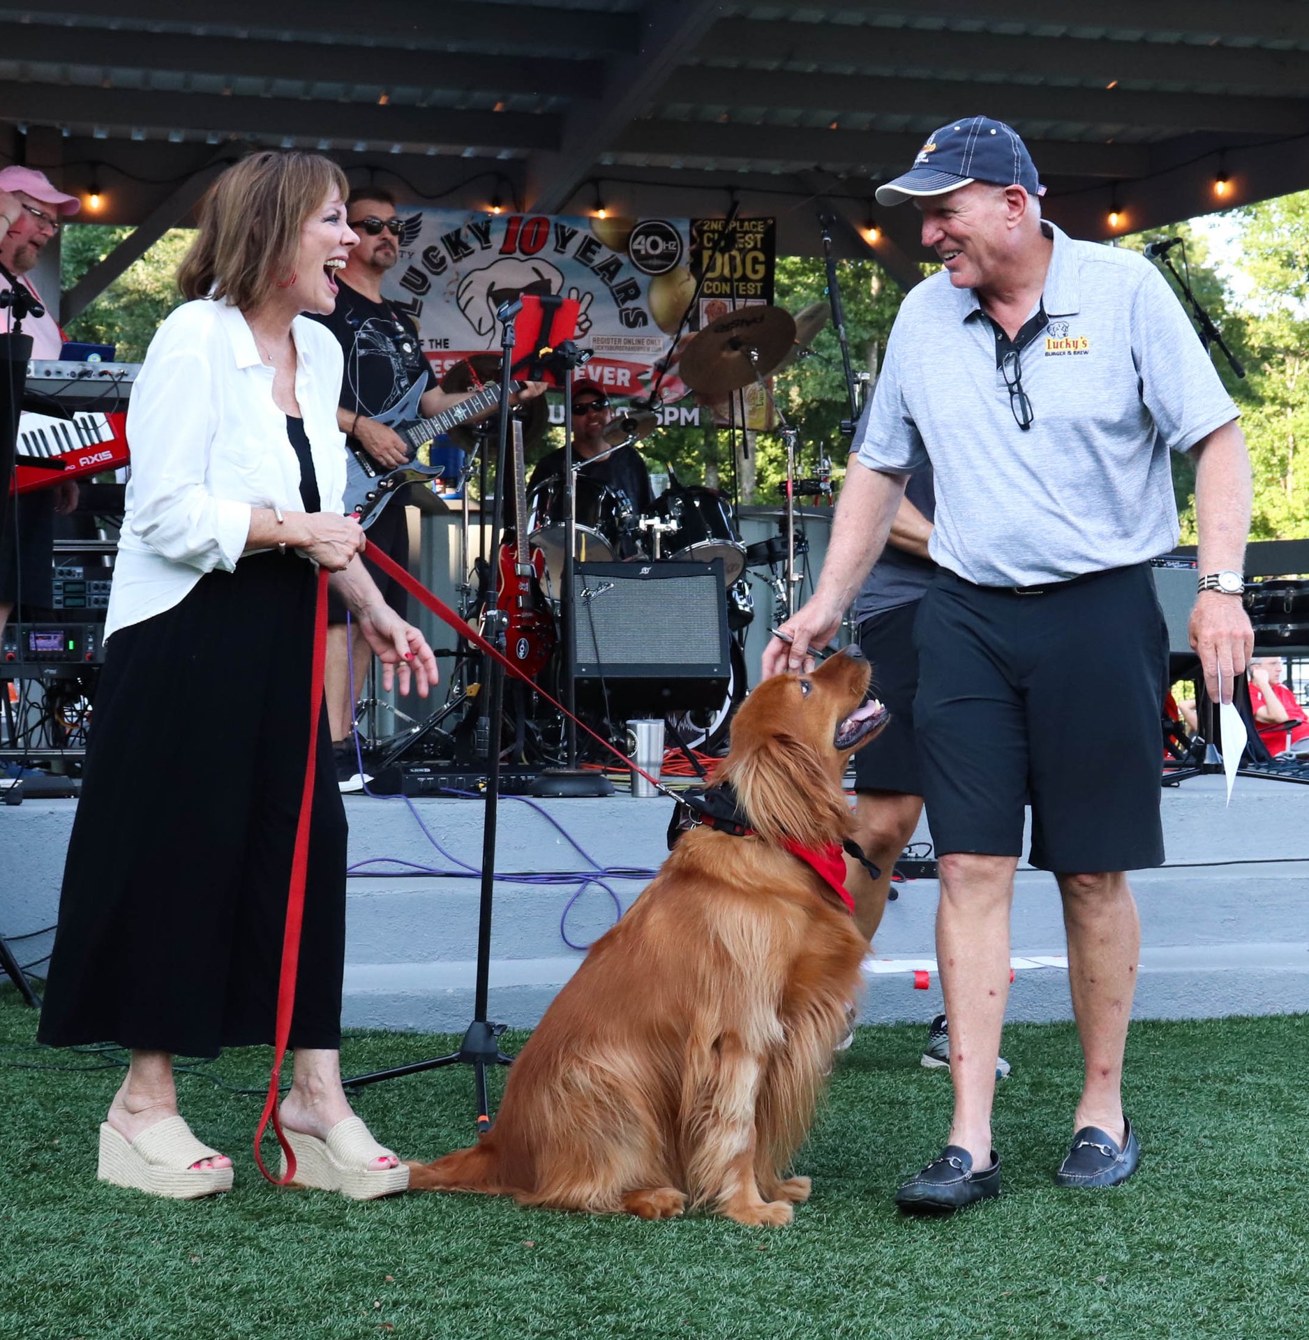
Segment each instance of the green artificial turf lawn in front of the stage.
[{"label": "green artificial turf lawn in front of the stage", "polygon": [[[1304,1017],[1135,1025],[1128,1114],[1144,1159],[1108,1193],[1052,1182],[1080,1081],[1073,1029],[1006,1029],[1014,1071],[995,1116],[1005,1195],[942,1221],[902,1218],[890,1198],[943,1140],[949,1079],[919,1068],[922,1026],[860,1029],[797,1160],[813,1198],[781,1230],[699,1215],[602,1219],[490,1197],[351,1205],[276,1191],[249,1150],[259,1099],[198,1076],[181,1080],[182,1104],[201,1138],[233,1155],[236,1189],[184,1203],[100,1186],[95,1128],[121,1072],[12,1068],[87,1063],[12,1049],[33,1032],[16,993],[0,992],[11,1048],[0,1052],[0,1324],[12,1335],[1309,1335]],[[346,1071],[450,1041],[351,1037]],[[512,1051],[521,1037],[506,1041]],[[248,1049],[204,1068],[259,1088],[268,1060]],[[389,1081],[362,1091],[356,1108],[403,1156],[429,1158],[472,1138],[470,1072]]]}]

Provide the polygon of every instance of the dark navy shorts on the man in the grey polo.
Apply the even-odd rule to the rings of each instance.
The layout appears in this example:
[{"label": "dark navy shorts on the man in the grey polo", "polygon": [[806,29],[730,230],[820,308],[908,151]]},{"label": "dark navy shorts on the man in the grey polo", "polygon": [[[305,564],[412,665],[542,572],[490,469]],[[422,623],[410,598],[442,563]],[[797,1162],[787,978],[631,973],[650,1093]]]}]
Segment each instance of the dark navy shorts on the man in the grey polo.
[{"label": "dark navy shorts on the man in the grey polo", "polygon": [[938,854],[1060,874],[1163,863],[1168,631],[1150,565],[1041,595],[941,572],[919,602],[914,726]]}]

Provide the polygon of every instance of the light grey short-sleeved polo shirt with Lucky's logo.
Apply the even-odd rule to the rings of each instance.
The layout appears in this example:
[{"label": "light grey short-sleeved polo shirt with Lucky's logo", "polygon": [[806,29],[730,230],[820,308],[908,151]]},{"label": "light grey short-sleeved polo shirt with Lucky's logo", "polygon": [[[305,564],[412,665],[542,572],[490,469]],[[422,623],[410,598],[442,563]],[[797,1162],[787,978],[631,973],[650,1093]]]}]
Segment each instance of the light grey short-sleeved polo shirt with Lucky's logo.
[{"label": "light grey short-sleeved polo shirt with Lucky's logo", "polygon": [[900,307],[859,442],[874,470],[931,464],[928,551],[981,586],[1057,582],[1171,549],[1168,449],[1188,450],[1238,413],[1150,261],[1041,228],[1054,247],[1049,324],[1021,355],[1032,427],[1010,410],[977,295],[942,272]]}]

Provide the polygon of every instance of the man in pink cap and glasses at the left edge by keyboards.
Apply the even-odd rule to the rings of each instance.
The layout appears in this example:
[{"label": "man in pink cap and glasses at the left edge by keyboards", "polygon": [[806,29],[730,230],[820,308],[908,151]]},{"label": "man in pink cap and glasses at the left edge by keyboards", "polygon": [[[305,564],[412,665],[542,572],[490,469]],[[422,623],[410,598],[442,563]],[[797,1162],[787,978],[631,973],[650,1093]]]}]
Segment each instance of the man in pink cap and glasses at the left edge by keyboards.
[{"label": "man in pink cap and glasses at the left edge by keyboards", "polygon": [[[35,168],[5,168],[0,170],[0,265],[12,283],[19,283],[46,308],[43,316],[28,316],[23,332],[32,336],[32,358],[59,358],[63,332],[50,306],[23,276],[36,267],[42,249],[59,232],[62,221],[80,208],[76,196],[55,190],[44,173]],[[12,283],[0,271],[0,292]],[[13,308],[0,308],[0,334],[13,328]],[[54,515],[71,512],[78,505],[75,480],[60,480],[50,489],[24,493],[15,500],[0,498],[5,511],[5,536],[0,548],[0,636],[19,598],[19,572],[23,574],[23,600],[32,606],[48,606],[52,570],[50,555],[54,549]]]}]

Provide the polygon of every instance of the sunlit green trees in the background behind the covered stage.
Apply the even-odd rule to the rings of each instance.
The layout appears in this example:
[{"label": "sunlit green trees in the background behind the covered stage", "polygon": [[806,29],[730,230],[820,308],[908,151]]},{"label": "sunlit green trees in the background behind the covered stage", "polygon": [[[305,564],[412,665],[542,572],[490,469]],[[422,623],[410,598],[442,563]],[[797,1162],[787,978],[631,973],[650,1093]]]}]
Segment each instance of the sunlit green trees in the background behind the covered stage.
[{"label": "sunlit green trees in the background behind the covered stage", "polygon": [[[1242,280],[1234,293],[1213,260],[1203,230],[1182,224],[1168,234],[1186,237],[1190,280],[1249,375],[1238,381],[1215,352],[1214,364],[1235,397],[1254,466],[1251,539],[1309,536],[1309,192],[1250,205],[1234,212],[1241,236],[1234,268]],[[127,228],[71,224],[63,236],[63,287],[70,288],[106,256]],[[139,362],[154,331],[177,306],[173,281],[190,243],[186,229],[171,229],[68,326],[72,339],[117,344],[118,358]],[[1140,249],[1156,233],[1124,240]],[[1174,264],[1182,268],[1178,251]],[[872,371],[886,348],[887,334],[902,293],[875,260],[837,264],[851,358],[856,373]],[[777,261],[776,300],[799,312],[827,297],[821,260],[788,256]],[[782,413],[800,430],[800,473],[812,476],[827,456],[837,480],[844,472],[849,438],[840,433],[848,417],[840,348],[831,323],[813,340],[813,356],[793,363],[773,378]],[[707,418],[707,410],[702,411]],[[553,430],[557,436],[559,430]],[[732,488],[730,434],[709,425],[667,427],[642,444],[652,470],[671,468],[689,484]],[[781,501],[784,450],[776,434],[761,433],[752,444],[753,497]],[[740,464],[740,462],[738,462]],[[1174,480],[1183,536],[1194,539],[1194,469],[1174,457]]]}]

